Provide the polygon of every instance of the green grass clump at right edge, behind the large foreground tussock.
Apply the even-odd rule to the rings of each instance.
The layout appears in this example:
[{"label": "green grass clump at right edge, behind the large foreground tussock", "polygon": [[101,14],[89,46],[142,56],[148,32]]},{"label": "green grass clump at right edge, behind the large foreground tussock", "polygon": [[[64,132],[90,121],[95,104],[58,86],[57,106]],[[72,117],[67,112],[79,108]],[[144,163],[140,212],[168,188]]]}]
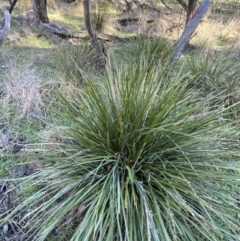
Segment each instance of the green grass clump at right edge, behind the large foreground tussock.
[{"label": "green grass clump at right edge, behind the large foreground tussock", "polygon": [[[200,92],[208,105],[232,106],[240,101],[240,65],[234,59],[221,54],[200,54],[200,58],[187,60],[187,69],[192,86]],[[224,98],[222,98],[224,96]],[[207,101],[208,100],[208,101]],[[233,109],[231,109],[232,113]],[[235,108],[235,117],[239,111]]]}]

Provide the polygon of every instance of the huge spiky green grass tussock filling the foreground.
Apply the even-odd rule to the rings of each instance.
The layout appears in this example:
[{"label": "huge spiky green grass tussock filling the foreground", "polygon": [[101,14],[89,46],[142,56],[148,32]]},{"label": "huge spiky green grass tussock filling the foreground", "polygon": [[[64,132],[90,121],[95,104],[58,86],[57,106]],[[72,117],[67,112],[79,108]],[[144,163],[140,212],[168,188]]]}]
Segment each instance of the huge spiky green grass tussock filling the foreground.
[{"label": "huge spiky green grass tussock filling the foreground", "polygon": [[239,148],[228,109],[203,111],[191,78],[148,63],[122,64],[98,83],[85,77],[55,103],[59,138],[25,179],[38,188],[0,225],[21,216],[38,241],[62,227],[76,241],[238,240]]}]

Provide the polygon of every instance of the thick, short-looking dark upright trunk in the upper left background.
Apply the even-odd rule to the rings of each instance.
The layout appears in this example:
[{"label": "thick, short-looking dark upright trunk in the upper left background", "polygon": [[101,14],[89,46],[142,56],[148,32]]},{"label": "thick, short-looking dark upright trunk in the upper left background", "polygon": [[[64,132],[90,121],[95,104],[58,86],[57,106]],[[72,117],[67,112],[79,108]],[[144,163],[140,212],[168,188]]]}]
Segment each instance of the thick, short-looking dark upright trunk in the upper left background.
[{"label": "thick, short-looking dark upright trunk in the upper left background", "polygon": [[49,23],[49,18],[47,16],[47,0],[32,0],[32,6],[36,25]]}]

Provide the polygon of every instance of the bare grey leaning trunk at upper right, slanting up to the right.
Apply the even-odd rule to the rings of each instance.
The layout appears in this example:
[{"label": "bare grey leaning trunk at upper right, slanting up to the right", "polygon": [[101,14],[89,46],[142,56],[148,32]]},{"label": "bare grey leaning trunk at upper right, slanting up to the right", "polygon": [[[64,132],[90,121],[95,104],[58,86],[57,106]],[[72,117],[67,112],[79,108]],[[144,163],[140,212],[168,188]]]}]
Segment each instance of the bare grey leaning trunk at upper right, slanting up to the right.
[{"label": "bare grey leaning trunk at upper right, slanting up to the right", "polygon": [[199,23],[202,21],[205,14],[207,13],[209,6],[210,6],[210,0],[205,0],[199,6],[199,8],[193,14],[192,18],[187,23],[187,26],[186,26],[182,36],[180,37],[180,39],[177,43],[176,50],[173,54],[173,62],[177,61],[180,58],[183,50],[185,49],[186,45],[188,44],[188,42],[190,40],[192,34],[196,30]]}]

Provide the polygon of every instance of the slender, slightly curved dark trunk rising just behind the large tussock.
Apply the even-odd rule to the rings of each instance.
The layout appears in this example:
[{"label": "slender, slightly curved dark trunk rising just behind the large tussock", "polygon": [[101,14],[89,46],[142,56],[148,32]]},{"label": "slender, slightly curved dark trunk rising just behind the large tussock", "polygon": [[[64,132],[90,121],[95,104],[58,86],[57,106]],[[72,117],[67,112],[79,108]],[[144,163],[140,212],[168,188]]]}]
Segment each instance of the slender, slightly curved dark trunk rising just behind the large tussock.
[{"label": "slender, slightly curved dark trunk rising just behind the large tussock", "polygon": [[83,0],[83,9],[84,9],[85,26],[87,28],[92,45],[97,51],[97,59],[99,60],[98,64],[103,65],[106,63],[107,55],[106,55],[106,51],[105,51],[103,43],[98,40],[97,35],[92,26],[91,17],[90,17],[89,0]]}]

